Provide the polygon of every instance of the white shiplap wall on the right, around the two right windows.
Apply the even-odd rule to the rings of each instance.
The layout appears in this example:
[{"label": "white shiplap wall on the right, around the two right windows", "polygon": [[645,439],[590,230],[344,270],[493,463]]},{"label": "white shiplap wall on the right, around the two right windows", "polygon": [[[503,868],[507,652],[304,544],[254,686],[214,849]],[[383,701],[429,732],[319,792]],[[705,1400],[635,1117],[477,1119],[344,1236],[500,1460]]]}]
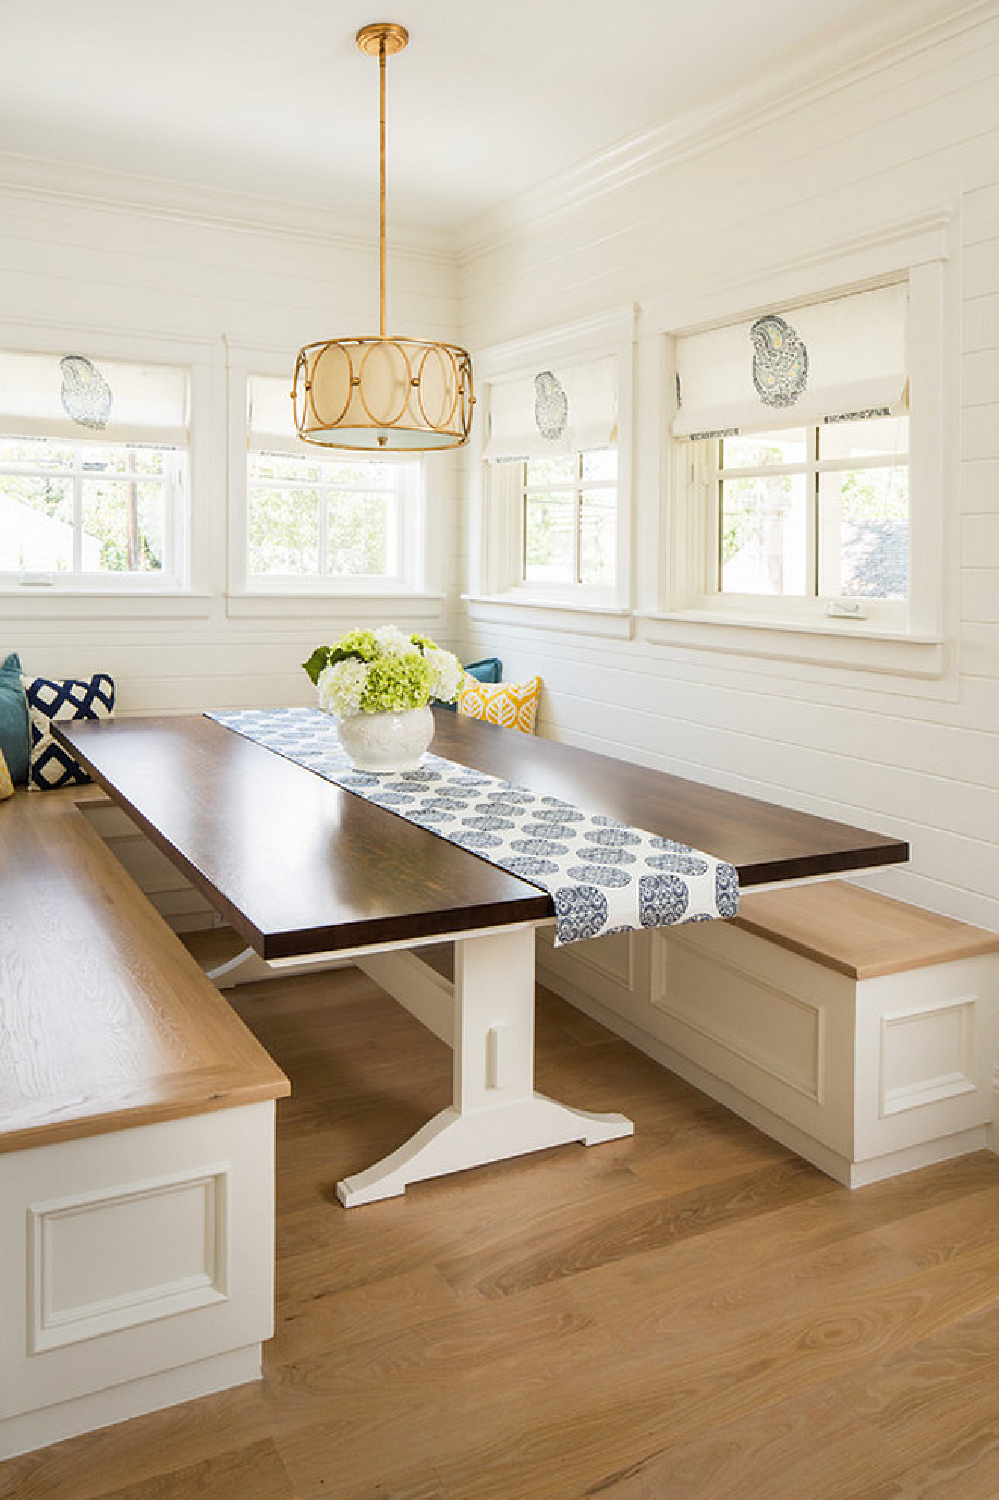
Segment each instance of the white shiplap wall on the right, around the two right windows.
[{"label": "white shiplap wall on the right, around the two right windows", "polygon": [[[960,15],[958,15],[960,12]],[[778,82],[776,87],[778,87]],[[470,620],[465,650],[540,672],[543,734],[898,834],[876,884],[999,927],[999,10],[954,8],[904,52],[729,118],[608,186],[594,164],[468,228],[464,336],[483,350],[610,308],[682,308],[872,228],[954,214],[962,428],[945,495],[950,668],[924,682],[759,654]],[[780,100],[774,99],[774,105]],[[736,292],[732,294],[736,298]],[[680,320],[682,326],[682,318]],[[639,334],[636,537],[660,506],[651,334]],[[957,462],[960,458],[960,462]],[[472,609],[474,615],[474,609]],[[748,634],[747,634],[748,644]]]}]

